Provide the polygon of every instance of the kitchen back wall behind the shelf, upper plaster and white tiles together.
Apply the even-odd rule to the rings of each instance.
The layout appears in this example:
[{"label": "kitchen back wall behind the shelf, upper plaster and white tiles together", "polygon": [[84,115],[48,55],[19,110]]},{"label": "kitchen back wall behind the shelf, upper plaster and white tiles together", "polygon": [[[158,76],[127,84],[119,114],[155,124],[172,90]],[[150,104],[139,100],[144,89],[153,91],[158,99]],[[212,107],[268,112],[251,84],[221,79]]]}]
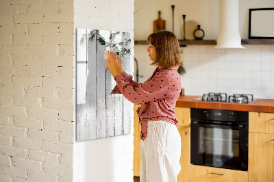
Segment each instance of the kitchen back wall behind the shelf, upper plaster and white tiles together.
[{"label": "kitchen back wall behind the shelf, upper plaster and white tiles together", "polygon": [[[150,11],[147,9],[147,1],[135,3],[136,40],[146,40],[151,34],[152,21],[157,18],[157,11],[162,10],[161,8],[168,7],[166,12],[162,12],[163,19],[171,20],[171,4],[175,4],[175,12],[176,7],[177,10],[180,7],[184,9],[182,12],[186,14],[186,17],[193,17],[193,20],[203,22],[201,25],[206,32],[205,39],[217,38],[219,1],[161,1],[161,3],[150,1],[150,3],[155,5],[149,6]],[[240,34],[242,39],[245,39],[248,37],[248,8],[271,8],[274,7],[274,1],[239,0],[239,4]],[[197,5],[196,8],[195,5]],[[166,13],[169,15],[165,15],[166,18],[164,18]],[[176,13],[182,18],[179,12]],[[143,26],[144,24],[147,26]],[[182,22],[175,21],[175,26],[178,27],[178,24],[182,25]],[[171,30],[171,21],[168,25],[167,29]],[[176,27],[175,34],[177,38],[182,38]],[[188,45],[181,48],[184,52],[182,60],[186,69],[186,74],[182,76],[182,88],[185,88],[186,94],[244,93],[254,94],[254,97],[260,99],[274,99],[274,45],[243,46],[247,49],[214,49],[212,45]],[[150,60],[146,49],[146,45],[135,46],[134,57],[138,60],[139,75],[143,76],[139,78],[139,82],[145,81],[155,69],[154,66],[149,66]]]}]

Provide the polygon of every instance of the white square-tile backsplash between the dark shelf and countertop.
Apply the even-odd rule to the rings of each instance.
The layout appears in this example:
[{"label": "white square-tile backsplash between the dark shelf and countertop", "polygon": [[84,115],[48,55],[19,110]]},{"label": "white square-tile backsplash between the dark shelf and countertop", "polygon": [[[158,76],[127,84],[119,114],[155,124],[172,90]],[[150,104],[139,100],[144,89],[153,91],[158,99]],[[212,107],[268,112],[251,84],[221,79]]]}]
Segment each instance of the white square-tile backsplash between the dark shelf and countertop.
[{"label": "white square-tile backsplash between the dark shelf and countertop", "polygon": [[[182,88],[188,95],[208,92],[253,94],[254,98],[274,99],[274,45],[243,45],[246,49],[214,49],[214,45],[188,45],[181,48],[186,74]],[[139,82],[147,80],[155,66],[146,45],[135,46]]]}]

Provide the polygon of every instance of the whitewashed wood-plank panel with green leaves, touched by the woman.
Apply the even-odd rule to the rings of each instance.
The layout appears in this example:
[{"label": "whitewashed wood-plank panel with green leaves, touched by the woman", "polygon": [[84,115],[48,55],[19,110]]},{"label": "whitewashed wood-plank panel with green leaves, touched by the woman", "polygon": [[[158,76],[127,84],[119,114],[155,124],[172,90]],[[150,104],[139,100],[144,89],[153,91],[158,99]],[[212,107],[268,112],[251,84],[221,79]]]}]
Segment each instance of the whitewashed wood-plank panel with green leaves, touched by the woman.
[{"label": "whitewashed wood-plank panel with green leaves, touched by the woman", "polygon": [[105,50],[115,51],[131,75],[130,34],[81,28],[76,32],[76,141],[130,133],[133,104],[123,94],[110,94],[116,82],[104,60]]}]

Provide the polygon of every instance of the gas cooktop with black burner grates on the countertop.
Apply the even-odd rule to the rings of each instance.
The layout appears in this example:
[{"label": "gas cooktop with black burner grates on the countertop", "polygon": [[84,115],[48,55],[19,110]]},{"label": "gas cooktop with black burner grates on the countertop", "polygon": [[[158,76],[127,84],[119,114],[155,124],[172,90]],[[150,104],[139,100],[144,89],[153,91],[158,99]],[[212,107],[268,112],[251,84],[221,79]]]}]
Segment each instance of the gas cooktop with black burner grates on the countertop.
[{"label": "gas cooktop with black burner grates on the countertop", "polygon": [[203,94],[202,97],[194,99],[195,101],[215,101],[226,103],[251,103],[255,101],[253,94],[233,94],[227,97],[225,93],[213,93]]}]

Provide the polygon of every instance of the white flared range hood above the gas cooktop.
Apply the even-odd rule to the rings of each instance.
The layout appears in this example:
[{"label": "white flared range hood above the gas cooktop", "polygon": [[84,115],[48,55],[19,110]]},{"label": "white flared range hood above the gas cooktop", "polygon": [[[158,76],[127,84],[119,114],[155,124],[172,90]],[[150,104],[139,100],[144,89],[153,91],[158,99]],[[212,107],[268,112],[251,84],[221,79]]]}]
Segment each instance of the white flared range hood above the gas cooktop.
[{"label": "white flared range hood above the gas cooktop", "polygon": [[217,39],[217,49],[241,48],[239,32],[239,1],[220,0],[220,27]]}]

